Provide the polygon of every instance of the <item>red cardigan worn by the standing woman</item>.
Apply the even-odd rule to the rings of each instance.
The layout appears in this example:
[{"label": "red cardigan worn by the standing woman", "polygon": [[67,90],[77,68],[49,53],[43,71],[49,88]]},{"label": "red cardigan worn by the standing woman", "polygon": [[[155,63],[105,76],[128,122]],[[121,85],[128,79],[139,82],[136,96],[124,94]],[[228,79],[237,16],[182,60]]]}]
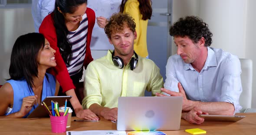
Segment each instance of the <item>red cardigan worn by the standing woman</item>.
[{"label": "red cardigan worn by the standing woman", "polygon": [[[87,65],[93,61],[91,55],[91,38],[92,38],[92,29],[95,24],[95,13],[92,9],[87,8],[85,13],[87,14],[88,18],[88,33],[87,33],[87,40],[86,40],[86,48],[85,48],[85,60],[84,66],[85,69]],[[52,14],[49,14],[43,19],[41,26],[39,27],[39,33],[42,33],[44,37],[49,41],[50,46],[56,50],[55,59],[56,59],[56,67],[49,68],[49,73],[53,74],[56,79],[59,81],[60,86],[62,87],[62,92],[65,93],[67,90],[75,89],[75,86],[69,76],[69,72],[67,70],[66,64],[62,59],[62,56],[59,52],[59,48],[57,47],[57,35],[56,29],[54,27],[54,22],[52,18]]]}]

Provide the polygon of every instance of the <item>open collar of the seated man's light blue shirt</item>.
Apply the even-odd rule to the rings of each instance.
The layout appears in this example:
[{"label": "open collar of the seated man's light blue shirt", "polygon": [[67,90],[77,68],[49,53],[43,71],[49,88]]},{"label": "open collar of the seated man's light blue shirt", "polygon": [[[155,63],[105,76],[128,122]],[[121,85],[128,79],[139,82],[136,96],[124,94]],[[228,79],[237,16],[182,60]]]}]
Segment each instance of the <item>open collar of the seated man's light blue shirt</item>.
[{"label": "open collar of the seated man's light blue shirt", "polygon": [[[215,55],[215,52],[213,51],[212,48],[207,47],[207,58],[205,61],[205,64],[203,66],[203,69],[207,69],[207,67],[216,67],[217,66],[217,58]],[[183,61],[184,62],[184,61]],[[184,62],[184,70],[195,70],[194,67],[191,64],[185,63]]]}]

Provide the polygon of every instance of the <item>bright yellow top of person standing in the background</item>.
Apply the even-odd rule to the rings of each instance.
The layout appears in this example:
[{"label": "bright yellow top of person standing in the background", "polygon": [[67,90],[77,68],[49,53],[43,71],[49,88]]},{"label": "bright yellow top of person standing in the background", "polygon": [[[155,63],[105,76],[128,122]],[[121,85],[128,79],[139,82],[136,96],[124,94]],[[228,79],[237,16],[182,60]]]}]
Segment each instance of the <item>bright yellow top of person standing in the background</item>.
[{"label": "bright yellow top of person standing in the background", "polygon": [[147,27],[148,19],[143,20],[139,10],[138,0],[127,0],[123,13],[128,13],[136,24],[137,39],[134,41],[134,50],[141,57],[148,56],[147,48]]}]

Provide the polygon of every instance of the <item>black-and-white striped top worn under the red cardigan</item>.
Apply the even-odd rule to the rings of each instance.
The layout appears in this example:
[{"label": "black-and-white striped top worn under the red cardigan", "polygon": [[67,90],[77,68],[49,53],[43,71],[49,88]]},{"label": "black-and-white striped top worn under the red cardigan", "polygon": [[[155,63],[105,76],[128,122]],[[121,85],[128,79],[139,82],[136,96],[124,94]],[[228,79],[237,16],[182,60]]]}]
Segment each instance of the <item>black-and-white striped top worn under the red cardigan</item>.
[{"label": "black-and-white striped top worn under the red cardigan", "polygon": [[72,76],[81,71],[85,59],[85,46],[88,32],[88,18],[86,13],[82,16],[82,21],[78,29],[69,32],[67,39],[72,46],[72,58],[67,66],[69,75]]}]

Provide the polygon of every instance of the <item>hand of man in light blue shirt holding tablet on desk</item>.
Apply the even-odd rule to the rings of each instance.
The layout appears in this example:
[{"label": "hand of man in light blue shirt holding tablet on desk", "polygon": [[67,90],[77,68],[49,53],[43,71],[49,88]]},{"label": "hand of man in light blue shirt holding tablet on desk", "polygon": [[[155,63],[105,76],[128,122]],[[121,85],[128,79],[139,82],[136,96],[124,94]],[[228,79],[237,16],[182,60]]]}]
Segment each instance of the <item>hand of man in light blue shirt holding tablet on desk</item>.
[{"label": "hand of man in light blue shirt holding tablet on desk", "polygon": [[202,124],[204,119],[199,117],[200,114],[208,113],[204,113],[197,107],[194,107],[189,112],[182,112],[181,118],[187,120],[191,124]]}]

